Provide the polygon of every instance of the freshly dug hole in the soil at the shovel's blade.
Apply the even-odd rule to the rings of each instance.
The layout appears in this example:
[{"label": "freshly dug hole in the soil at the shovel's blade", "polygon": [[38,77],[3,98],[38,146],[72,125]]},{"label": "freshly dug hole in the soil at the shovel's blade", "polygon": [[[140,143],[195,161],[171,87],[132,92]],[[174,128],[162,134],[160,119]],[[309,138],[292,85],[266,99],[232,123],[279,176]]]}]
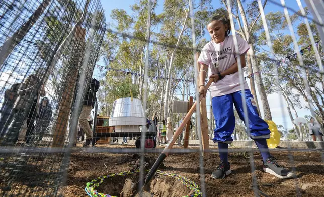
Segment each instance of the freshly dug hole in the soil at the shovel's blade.
[{"label": "freshly dug hole in the soil at the shovel's blade", "polygon": [[[180,197],[194,194],[194,191],[183,185],[182,182],[168,176],[155,176],[150,183],[150,191],[144,191],[145,197]],[[99,193],[115,195],[120,197],[139,196],[138,176],[113,177],[104,180],[97,188]]]}]

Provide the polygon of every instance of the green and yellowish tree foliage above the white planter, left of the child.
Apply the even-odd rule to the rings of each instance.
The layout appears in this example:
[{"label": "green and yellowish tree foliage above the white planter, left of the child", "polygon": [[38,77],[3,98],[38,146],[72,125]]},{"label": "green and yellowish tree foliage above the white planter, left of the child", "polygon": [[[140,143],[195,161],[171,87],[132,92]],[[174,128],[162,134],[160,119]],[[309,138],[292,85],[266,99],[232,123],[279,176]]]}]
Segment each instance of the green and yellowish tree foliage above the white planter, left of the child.
[{"label": "green and yellowish tree foliage above the white planter, left of the child", "polygon": [[[147,109],[149,114],[158,112],[160,110],[161,96],[165,91],[167,80],[160,77],[167,77],[168,65],[170,63],[171,53],[174,50],[178,40],[179,33],[182,29],[186,12],[188,11],[188,1],[174,1],[168,0],[163,3],[163,12],[156,14],[154,8],[157,1],[152,1],[151,7],[151,36],[150,40],[158,42],[159,44],[152,44],[149,51],[149,65],[148,65],[148,84],[149,91],[147,97]],[[206,41],[201,42],[204,35],[207,16],[210,16],[210,0],[197,0],[193,2],[195,11],[196,24],[196,38],[198,46],[202,46]],[[101,52],[104,56],[106,68],[113,68],[117,70],[125,70],[132,73],[144,74],[145,62],[145,39],[147,30],[147,1],[140,1],[130,6],[133,13],[127,13],[123,9],[114,9],[111,13],[112,20],[102,45]],[[186,10],[185,10],[186,9]],[[192,35],[191,35],[190,19],[186,22],[186,29],[184,31],[179,48],[175,54],[175,59],[172,68],[172,78],[193,78],[193,55],[192,55]],[[156,31],[158,29],[158,31]],[[189,67],[190,70],[189,70]],[[126,96],[120,92],[126,92],[129,89],[126,84],[120,81],[128,80],[133,89],[136,89],[134,97],[140,97],[142,91],[143,77],[141,75],[125,76],[121,72],[108,71],[105,74],[105,91],[106,94],[100,93],[100,103],[104,105],[106,113],[111,110],[111,105],[118,96]],[[156,76],[157,78],[153,78]],[[117,86],[123,84],[121,90]],[[183,85],[183,83],[171,81],[170,94],[177,93],[176,89]],[[136,87],[136,88],[135,88]],[[125,91],[124,91],[125,90]],[[172,97],[172,96],[171,96]],[[141,97],[142,99],[142,97]],[[177,98],[174,96],[173,100]]]}]

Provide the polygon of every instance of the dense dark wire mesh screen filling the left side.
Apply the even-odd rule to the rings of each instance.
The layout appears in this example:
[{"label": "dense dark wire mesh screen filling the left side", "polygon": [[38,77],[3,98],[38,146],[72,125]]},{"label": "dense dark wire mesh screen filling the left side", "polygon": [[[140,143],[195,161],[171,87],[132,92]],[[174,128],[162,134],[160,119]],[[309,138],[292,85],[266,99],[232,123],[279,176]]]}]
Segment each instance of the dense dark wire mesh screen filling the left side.
[{"label": "dense dark wire mesh screen filling the left side", "polygon": [[98,1],[2,1],[0,13],[2,195],[53,196],[67,170],[70,112],[81,112],[76,95],[90,95],[105,16]]}]

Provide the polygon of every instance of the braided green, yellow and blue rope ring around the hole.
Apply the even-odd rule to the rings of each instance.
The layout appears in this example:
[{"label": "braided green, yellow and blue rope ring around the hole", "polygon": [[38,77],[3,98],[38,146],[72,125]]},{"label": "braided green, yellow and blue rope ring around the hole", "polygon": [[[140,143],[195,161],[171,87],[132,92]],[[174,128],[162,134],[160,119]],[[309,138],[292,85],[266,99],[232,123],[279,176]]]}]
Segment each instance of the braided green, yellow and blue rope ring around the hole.
[{"label": "braided green, yellow and blue rope ring around the hole", "polygon": [[[149,171],[149,170],[146,170],[146,171]],[[109,174],[107,176],[100,176],[100,177],[92,180],[91,182],[88,182],[87,186],[85,187],[85,191],[91,197],[116,197],[116,196],[111,196],[109,194],[99,193],[96,190],[96,188],[99,187],[99,185],[101,183],[103,183],[104,179],[106,179],[106,178],[111,178],[111,177],[116,177],[116,176],[127,176],[127,175],[131,175],[131,174],[135,174],[137,172],[139,172],[139,170],[124,171],[124,172],[120,172],[120,173]],[[192,181],[192,180],[190,180],[190,179],[188,179],[188,178],[186,178],[184,176],[180,176],[178,174],[167,173],[167,172],[163,172],[163,171],[160,171],[160,170],[157,170],[156,173],[160,174],[160,175],[174,177],[178,181],[182,182],[190,190],[195,192],[194,194],[186,195],[186,196],[183,196],[183,197],[201,197],[202,196],[202,193],[199,190],[199,186],[194,181]]]}]

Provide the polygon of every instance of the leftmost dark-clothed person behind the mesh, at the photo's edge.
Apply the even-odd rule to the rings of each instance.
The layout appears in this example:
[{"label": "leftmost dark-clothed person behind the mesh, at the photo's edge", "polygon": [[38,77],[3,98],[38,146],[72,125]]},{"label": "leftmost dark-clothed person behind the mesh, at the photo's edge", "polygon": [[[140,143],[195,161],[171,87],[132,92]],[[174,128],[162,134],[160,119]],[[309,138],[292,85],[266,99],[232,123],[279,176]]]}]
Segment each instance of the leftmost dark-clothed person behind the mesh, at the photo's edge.
[{"label": "leftmost dark-clothed person behind the mesh, at the photo's edge", "polygon": [[9,120],[10,113],[14,107],[15,101],[18,96],[18,89],[19,89],[20,83],[15,83],[11,87],[11,89],[7,89],[5,91],[4,96],[4,103],[1,106],[0,109],[0,136],[4,136],[9,124],[12,120]]}]

